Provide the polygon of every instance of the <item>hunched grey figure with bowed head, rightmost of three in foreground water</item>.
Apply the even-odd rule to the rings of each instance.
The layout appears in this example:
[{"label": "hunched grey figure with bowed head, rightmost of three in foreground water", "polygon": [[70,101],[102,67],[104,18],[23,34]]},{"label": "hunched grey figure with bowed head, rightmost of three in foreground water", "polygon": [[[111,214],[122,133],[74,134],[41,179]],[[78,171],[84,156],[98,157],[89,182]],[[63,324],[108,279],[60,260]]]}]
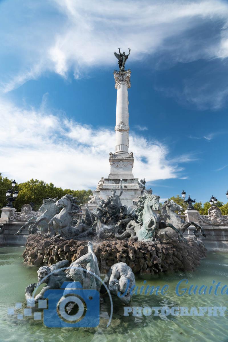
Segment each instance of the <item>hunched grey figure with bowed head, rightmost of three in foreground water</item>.
[{"label": "hunched grey figure with bowed head, rightmost of three in foreground water", "polygon": [[124,304],[128,304],[132,297],[132,292],[135,286],[135,276],[129,267],[124,262],[114,264],[109,269],[105,276],[104,283],[108,286],[112,294],[118,295],[118,298]]}]

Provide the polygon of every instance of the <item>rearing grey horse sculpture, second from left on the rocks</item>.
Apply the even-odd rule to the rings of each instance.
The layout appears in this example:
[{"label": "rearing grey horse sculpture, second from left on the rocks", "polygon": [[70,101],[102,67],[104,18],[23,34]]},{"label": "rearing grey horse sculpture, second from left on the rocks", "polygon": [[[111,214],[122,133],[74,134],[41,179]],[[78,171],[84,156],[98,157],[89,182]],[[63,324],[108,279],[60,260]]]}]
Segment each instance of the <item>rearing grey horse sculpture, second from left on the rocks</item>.
[{"label": "rearing grey horse sculpture, second from left on the rocks", "polygon": [[63,235],[68,237],[75,237],[81,231],[72,226],[73,216],[79,213],[79,201],[72,195],[65,195],[56,202],[58,208],[63,209],[56,214],[48,223],[48,233],[50,236]]}]

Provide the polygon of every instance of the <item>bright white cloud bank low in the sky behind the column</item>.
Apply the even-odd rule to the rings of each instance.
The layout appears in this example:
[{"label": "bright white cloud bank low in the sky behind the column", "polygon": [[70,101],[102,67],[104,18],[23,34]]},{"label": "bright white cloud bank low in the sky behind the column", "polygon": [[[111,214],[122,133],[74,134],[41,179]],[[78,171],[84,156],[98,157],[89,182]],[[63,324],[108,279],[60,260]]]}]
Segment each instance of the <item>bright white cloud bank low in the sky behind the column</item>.
[{"label": "bright white cloud bank low in the sky behind the column", "polygon": [[[0,171],[4,176],[18,182],[33,177],[73,189],[95,188],[101,176],[108,177],[109,152],[115,146],[113,130],[95,129],[53,113],[45,105],[45,96],[37,110],[0,101],[0,114]],[[133,133],[130,150],[135,177],[145,177],[147,182],[182,177],[183,167],[177,161],[183,158],[169,160],[169,148],[162,143]]]}]

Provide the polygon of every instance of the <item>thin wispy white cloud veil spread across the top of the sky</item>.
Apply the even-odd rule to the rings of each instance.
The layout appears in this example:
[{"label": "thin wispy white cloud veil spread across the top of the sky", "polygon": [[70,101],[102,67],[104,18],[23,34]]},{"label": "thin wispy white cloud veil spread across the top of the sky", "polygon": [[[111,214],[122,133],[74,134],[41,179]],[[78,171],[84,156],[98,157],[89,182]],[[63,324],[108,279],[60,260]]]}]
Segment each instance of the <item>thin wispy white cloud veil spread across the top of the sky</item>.
[{"label": "thin wispy white cloud veil spread across the top of the sky", "polygon": [[[9,2],[1,4],[1,50],[20,63],[17,70],[15,66],[11,74],[2,76],[4,92],[46,71],[64,78],[72,71],[80,78],[90,67],[113,66],[113,51],[119,46],[131,47],[132,61],[161,51],[168,52],[166,62],[172,63],[228,56],[228,3],[224,1],[25,0],[13,4],[17,15],[6,22],[11,10]],[[218,21],[224,23],[220,34],[204,45],[183,37],[202,23]]]}]

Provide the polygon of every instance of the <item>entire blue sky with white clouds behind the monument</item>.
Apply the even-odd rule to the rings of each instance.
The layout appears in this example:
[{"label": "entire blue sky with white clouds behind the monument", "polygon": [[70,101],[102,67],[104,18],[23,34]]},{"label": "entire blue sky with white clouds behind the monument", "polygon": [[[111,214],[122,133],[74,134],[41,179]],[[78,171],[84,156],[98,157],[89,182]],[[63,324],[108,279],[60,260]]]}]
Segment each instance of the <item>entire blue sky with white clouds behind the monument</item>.
[{"label": "entire blue sky with white clouds behind the monument", "polygon": [[134,175],[226,202],[228,3],[1,1],[0,172],[95,188],[115,148],[113,51],[131,48]]}]

